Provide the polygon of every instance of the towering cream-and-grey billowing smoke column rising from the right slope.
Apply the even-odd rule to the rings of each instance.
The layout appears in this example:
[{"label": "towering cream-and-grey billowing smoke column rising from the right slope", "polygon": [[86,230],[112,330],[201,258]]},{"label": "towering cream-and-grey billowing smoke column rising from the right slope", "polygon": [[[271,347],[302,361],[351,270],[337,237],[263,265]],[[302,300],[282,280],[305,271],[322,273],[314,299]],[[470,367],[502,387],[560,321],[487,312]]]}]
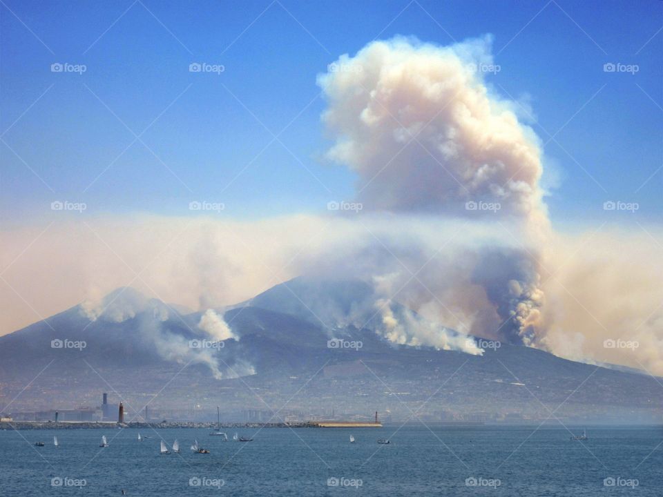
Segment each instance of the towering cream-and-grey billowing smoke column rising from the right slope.
[{"label": "towering cream-and-grey billowing smoke column rising from the right slope", "polygon": [[[537,253],[548,236],[541,150],[513,103],[491,95],[490,38],[450,47],[396,38],[343,55],[318,78],[334,135],[329,159],[358,175],[363,211],[517,222]],[[503,337],[532,343],[540,326],[540,255],[484,249],[474,277]],[[484,334],[486,331],[484,331]]]}]

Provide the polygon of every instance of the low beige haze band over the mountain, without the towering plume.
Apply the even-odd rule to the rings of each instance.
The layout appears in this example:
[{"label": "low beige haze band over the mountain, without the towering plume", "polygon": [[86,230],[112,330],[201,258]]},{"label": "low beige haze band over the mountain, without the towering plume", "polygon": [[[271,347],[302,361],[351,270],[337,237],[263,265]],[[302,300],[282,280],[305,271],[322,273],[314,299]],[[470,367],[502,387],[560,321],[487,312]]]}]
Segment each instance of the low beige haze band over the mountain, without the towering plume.
[{"label": "low beige haze band over the mountain, without the towering plume", "polygon": [[[146,223],[151,226],[148,240]],[[473,275],[487,246],[507,253],[518,249],[514,237],[494,223],[378,213],[361,222],[347,217],[237,223],[151,216],[89,224],[115,253],[86,226],[49,228],[3,275],[30,304],[8,286],[0,289],[3,333],[85,300],[90,289],[108,293],[131,283],[165,302],[200,309],[202,300],[214,307],[233,304],[306,274],[361,278],[375,284],[382,298],[400,302],[430,322],[502,340],[501,318]],[[551,237],[547,271],[541,276],[546,326],[537,335],[537,347],[574,360],[646,367],[663,375],[663,249],[656,242],[663,233],[653,226],[646,229],[651,236],[606,230]],[[16,259],[42,230],[26,228],[2,237],[3,256]],[[155,256],[152,247],[157,244],[167,249]],[[201,269],[197,251],[203,246],[214,257]],[[144,269],[140,279],[116,253],[132,268]],[[88,267],[95,271],[84,271]],[[228,267],[235,270],[224,271]],[[210,290],[202,284],[200,270],[223,277]],[[376,280],[376,275],[382,278]],[[387,277],[388,285],[383,281]],[[605,340],[617,338],[637,340],[640,347],[604,347]]]}]

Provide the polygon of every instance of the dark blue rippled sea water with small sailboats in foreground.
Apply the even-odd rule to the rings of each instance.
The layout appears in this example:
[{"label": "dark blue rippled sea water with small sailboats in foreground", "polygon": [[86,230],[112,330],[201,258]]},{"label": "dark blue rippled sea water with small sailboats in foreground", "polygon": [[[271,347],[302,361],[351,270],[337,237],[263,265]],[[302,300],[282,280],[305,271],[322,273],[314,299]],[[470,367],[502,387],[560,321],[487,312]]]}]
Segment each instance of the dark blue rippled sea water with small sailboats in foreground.
[{"label": "dark blue rippled sea water with small sailboats in foreground", "polygon": [[[566,429],[397,429],[241,429],[255,439],[244,443],[206,429],[141,430],[144,442],[135,429],[0,431],[0,496],[663,496],[663,429],[588,427],[586,442]],[[161,456],[160,437],[182,453]],[[194,438],[211,454],[193,454]]]}]

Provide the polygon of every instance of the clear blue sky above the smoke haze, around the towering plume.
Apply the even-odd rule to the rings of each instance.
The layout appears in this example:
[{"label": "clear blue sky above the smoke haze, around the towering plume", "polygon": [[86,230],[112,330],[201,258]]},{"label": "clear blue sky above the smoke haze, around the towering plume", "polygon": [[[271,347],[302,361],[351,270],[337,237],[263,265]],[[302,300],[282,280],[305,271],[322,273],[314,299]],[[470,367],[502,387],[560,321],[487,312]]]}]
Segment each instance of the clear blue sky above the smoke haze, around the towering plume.
[{"label": "clear blue sky above the smoke haze, around the towering plume", "polygon": [[[488,82],[527,95],[533,128],[555,137],[553,222],[600,217],[606,199],[639,202],[647,220],[663,212],[662,1],[3,0],[0,16],[5,225],[39,221],[54,199],[90,215],[188,215],[192,199],[234,217],[323,211],[352,197],[354,176],[318,159],[316,75],[376,37],[445,45],[486,33],[501,66]],[[191,73],[193,61],[225,71]],[[87,69],[53,73],[55,62]],[[639,71],[604,72],[608,62]],[[247,167],[273,138],[265,127],[291,121]],[[109,167],[129,129],[148,126],[147,147]]]}]

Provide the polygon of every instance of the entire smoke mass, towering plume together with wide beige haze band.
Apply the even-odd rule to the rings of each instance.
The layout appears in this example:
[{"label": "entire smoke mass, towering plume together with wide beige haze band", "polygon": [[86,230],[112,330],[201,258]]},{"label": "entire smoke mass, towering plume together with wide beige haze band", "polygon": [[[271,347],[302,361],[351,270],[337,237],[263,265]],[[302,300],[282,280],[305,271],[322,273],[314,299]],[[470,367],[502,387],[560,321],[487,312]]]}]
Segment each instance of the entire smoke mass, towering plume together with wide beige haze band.
[{"label": "entire smoke mass, towering plume together with wide beige haze band", "polygon": [[[553,232],[541,145],[477,70],[491,64],[490,39],[439,47],[399,38],[344,55],[318,78],[327,158],[356,172],[361,212],[88,218],[7,233],[12,287],[0,287],[0,334],[118,286],[209,309],[304,274],[374,285],[372,311],[394,342],[470,351],[441,327],[394,315],[399,302],[462,333],[663,375],[660,228],[598,233],[588,244]],[[212,315],[201,324],[227,335]],[[639,347],[605,346],[618,338]],[[164,354],[181,357],[180,346]]]}]

